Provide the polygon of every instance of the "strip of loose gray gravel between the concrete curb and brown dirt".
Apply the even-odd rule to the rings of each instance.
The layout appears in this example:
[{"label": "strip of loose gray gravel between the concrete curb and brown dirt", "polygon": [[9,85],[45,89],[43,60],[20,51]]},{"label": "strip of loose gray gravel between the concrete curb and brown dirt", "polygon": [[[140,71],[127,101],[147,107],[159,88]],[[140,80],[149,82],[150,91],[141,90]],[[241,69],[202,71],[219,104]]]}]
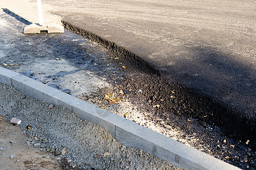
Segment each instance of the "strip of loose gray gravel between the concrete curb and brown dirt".
[{"label": "strip of loose gray gravel between the concrete curb and brown dirt", "polygon": [[[34,145],[83,169],[180,169],[142,149],[122,146],[100,126],[82,121],[63,106],[25,96],[0,83],[0,115],[22,120]],[[31,143],[33,143],[31,142]],[[62,155],[64,154],[64,155]],[[104,156],[105,155],[105,156]]]}]

